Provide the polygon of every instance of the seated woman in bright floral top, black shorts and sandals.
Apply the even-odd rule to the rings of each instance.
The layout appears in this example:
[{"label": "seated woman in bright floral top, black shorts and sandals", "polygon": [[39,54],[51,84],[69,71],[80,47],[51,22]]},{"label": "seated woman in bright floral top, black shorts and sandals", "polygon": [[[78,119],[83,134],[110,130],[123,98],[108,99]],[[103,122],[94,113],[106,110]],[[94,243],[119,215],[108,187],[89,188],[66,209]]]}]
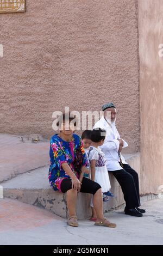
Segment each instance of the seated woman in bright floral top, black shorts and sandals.
[{"label": "seated woman in bright floral top, black shorts and sandals", "polygon": [[[93,206],[97,213],[95,225],[116,227],[103,216],[103,202],[101,186],[96,182],[83,177],[86,165],[86,155],[82,139],[73,133],[69,118],[65,115],[59,122],[60,133],[55,134],[50,141],[51,164],[49,167],[49,182],[54,191],[66,193],[67,208],[69,211],[68,225],[78,227],[76,216],[77,193],[93,194]],[[68,127],[67,127],[68,126]]]}]

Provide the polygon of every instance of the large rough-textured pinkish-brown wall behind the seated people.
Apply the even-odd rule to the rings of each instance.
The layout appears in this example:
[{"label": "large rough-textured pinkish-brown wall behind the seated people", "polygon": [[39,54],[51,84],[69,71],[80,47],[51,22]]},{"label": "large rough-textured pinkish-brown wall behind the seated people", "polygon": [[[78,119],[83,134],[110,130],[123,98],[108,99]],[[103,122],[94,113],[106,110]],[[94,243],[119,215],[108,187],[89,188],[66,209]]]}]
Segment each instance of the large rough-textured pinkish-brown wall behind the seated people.
[{"label": "large rough-textured pinkish-brown wall behind the seated people", "polygon": [[1,14],[0,132],[53,134],[52,112],[114,101],[117,126],[139,150],[136,0],[27,0]]}]

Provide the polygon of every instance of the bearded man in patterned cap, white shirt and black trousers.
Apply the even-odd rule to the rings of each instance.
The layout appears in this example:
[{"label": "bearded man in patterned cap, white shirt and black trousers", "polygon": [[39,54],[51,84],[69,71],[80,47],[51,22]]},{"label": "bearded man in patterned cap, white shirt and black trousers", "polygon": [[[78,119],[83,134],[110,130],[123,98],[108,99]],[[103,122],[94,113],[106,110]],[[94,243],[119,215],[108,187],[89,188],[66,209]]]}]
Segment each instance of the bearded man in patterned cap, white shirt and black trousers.
[{"label": "bearded man in patterned cap, white shirt and black trousers", "polygon": [[[124,200],[126,201],[125,214],[141,217],[146,211],[140,209],[139,177],[121,155],[122,148],[128,144],[122,139],[116,129],[116,107],[109,102],[102,106],[103,117],[95,124],[94,129],[100,127],[106,130],[106,138],[101,146],[106,158],[106,166],[119,182]],[[111,122],[110,122],[111,121]]]}]

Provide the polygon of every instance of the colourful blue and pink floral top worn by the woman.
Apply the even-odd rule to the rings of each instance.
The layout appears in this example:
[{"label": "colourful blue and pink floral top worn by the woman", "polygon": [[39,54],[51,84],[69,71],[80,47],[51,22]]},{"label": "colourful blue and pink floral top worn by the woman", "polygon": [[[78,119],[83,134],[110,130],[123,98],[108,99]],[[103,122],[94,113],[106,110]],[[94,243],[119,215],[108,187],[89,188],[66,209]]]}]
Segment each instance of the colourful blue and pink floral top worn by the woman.
[{"label": "colourful blue and pink floral top worn by the woman", "polygon": [[79,178],[80,168],[87,163],[86,155],[83,149],[82,139],[73,133],[71,142],[66,142],[55,134],[50,141],[50,167],[49,182],[53,190],[60,191],[62,179],[70,178],[64,169],[62,163],[68,163],[72,172]]}]

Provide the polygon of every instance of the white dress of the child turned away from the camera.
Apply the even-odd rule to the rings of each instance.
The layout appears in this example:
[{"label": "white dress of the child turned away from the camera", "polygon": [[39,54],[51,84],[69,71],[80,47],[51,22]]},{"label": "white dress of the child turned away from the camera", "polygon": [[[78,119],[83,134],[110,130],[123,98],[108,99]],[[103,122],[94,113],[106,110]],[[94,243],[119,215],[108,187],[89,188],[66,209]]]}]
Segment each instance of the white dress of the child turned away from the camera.
[{"label": "white dress of the child turned away from the camera", "polygon": [[95,182],[97,182],[102,187],[102,192],[107,192],[110,190],[110,180],[107,167],[105,165],[105,155],[102,150],[98,147],[95,148],[91,146],[89,148],[89,161],[96,160],[95,167]]}]

